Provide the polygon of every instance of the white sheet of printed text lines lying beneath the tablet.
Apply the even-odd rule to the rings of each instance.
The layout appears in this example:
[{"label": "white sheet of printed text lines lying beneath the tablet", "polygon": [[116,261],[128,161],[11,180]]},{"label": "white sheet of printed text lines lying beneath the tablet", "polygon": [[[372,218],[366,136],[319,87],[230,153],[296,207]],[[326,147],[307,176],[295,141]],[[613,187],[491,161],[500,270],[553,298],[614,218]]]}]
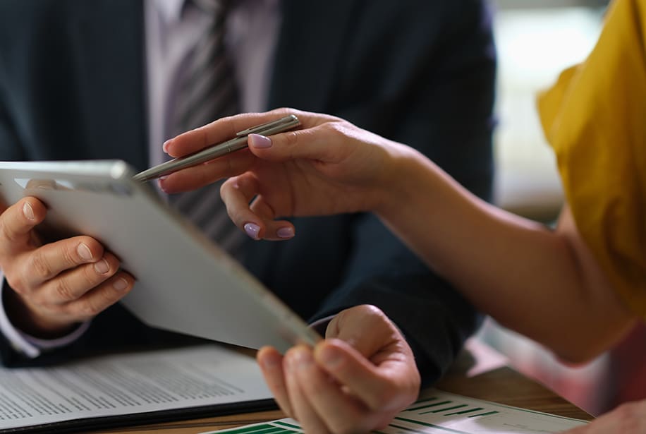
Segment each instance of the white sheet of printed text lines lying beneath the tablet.
[{"label": "white sheet of printed text lines lying beneath the tablet", "polygon": [[255,360],[217,345],[0,368],[0,429],[269,399]]}]

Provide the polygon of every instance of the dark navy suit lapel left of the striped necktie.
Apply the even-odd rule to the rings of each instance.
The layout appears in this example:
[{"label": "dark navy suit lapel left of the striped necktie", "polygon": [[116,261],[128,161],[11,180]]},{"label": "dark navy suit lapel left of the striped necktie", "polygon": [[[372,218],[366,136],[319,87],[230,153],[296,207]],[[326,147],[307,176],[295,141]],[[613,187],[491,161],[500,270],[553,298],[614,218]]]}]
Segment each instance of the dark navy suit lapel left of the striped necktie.
[{"label": "dark navy suit lapel left of the striped necktie", "polygon": [[88,155],[147,167],[141,1],[79,1],[72,40]]}]

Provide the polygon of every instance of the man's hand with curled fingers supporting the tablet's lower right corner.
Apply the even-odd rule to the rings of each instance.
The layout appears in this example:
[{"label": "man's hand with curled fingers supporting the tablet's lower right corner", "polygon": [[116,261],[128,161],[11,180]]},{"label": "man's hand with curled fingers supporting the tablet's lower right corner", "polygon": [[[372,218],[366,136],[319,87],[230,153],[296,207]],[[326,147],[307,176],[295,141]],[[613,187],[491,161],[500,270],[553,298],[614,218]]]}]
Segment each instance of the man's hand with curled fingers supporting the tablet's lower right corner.
[{"label": "man's hand with curled fingers supporting the tablet's lower right corner", "polygon": [[374,306],[342,311],[314,349],[257,355],[281,409],[307,433],[360,433],[386,426],[418,397],[420,375],[397,327]]}]

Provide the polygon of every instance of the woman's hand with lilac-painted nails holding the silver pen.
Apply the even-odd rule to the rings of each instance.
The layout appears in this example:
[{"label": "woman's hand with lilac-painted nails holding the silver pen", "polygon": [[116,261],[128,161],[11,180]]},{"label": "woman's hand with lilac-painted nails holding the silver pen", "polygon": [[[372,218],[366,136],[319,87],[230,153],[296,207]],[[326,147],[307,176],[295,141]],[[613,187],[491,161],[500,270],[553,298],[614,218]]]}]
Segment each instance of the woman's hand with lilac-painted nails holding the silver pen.
[{"label": "woman's hand with lilac-painted nails holding the silver pen", "polygon": [[293,225],[274,219],[374,210],[394,190],[398,155],[408,147],[323,114],[277,109],[220,119],[164,144],[181,157],[219,143],[250,126],[295,114],[302,128],[250,135],[248,150],[233,152],[164,177],[168,193],[231,177],[221,188],[233,222],[254,239],[288,239]]}]

